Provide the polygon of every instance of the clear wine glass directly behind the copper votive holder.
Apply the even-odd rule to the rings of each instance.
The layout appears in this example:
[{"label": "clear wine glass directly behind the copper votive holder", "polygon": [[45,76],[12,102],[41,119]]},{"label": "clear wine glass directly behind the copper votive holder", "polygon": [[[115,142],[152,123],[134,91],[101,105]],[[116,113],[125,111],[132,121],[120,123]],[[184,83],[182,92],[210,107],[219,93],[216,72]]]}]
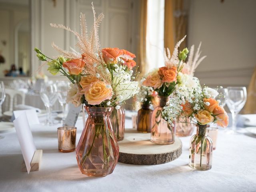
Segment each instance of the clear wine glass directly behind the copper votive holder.
[{"label": "clear wine glass directly behind the copper votive holder", "polygon": [[57,83],[57,94],[58,101],[62,106],[62,122],[66,118],[66,98],[68,92],[68,83],[66,81],[58,81]]}]

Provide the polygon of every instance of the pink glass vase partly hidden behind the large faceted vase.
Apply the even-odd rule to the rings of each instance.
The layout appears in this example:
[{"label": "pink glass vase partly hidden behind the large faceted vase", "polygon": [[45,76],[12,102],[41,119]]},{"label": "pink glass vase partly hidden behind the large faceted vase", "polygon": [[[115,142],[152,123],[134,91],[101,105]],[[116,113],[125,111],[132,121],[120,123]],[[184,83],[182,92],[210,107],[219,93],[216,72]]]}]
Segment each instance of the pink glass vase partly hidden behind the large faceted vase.
[{"label": "pink glass vase partly hidden behind the large faceted vase", "polygon": [[111,113],[111,123],[112,127],[118,141],[124,139],[124,121],[125,121],[125,112],[124,109],[121,107],[120,109],[116,110],[113,108]]}]

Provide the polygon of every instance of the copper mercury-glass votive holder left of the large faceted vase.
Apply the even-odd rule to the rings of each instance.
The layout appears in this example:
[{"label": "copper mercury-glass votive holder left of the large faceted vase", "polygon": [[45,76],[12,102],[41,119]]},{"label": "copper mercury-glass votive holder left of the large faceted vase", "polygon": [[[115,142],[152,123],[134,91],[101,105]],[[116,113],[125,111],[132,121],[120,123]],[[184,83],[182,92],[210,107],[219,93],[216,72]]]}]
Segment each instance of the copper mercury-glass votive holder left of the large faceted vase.
[{"label": "copper mercury-glass votive holder left of the large faceted vase", "polygon": [[76,127],[63,126],[57,129],[58,148],[60,152],[72,152],[76,150]]}]

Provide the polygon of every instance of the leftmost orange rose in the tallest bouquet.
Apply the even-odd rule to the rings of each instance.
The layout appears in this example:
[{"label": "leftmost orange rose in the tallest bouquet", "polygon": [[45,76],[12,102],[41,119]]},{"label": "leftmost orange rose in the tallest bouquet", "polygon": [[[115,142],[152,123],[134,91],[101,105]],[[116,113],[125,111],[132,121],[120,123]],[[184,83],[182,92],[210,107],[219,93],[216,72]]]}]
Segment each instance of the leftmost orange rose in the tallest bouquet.
[{"label": "leftmost orange rose in the tallest bouquet", "polygon": [[85,62],[81,59],[72,59],[63,63],[63,67],[67,68],[71,75],[79,75],[83,71],[84,65]]}]

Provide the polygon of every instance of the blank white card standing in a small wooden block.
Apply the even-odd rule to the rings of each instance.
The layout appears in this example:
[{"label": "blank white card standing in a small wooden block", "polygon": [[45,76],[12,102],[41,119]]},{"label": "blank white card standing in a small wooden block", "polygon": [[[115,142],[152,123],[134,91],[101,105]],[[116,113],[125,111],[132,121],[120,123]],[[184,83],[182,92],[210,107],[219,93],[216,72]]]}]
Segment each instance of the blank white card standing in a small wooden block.
[{"label": "blank white card standing in a small wooden block", "polygon": [[36,146],[33,140],[32,132],[28,124],[28,118],[26,112],[23,112],[14,121],[14,127],[20,143],[22,156],[24,158],[28,173],[31,169],[31,161],[36,151]]}]

